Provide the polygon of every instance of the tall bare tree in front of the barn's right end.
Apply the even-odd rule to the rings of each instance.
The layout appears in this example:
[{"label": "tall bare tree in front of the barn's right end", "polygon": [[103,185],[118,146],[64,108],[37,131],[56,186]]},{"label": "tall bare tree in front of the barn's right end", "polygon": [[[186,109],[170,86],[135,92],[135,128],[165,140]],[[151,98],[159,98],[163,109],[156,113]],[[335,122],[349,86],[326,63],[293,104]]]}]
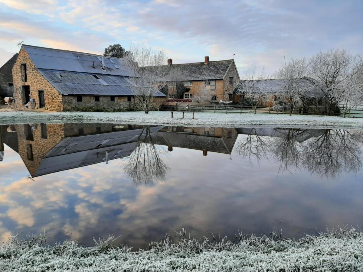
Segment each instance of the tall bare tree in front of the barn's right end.
[{"label": "tall bare tree in front of the barn's right end", "polygon": [[167,66],[164,50],[152,49],[150,45],[131,45],[132,54],[127,54],[131,74],[131,88],[135,98],[142,105],[143,111],[149,113],[155,94],[160,91],[168,81]]}]

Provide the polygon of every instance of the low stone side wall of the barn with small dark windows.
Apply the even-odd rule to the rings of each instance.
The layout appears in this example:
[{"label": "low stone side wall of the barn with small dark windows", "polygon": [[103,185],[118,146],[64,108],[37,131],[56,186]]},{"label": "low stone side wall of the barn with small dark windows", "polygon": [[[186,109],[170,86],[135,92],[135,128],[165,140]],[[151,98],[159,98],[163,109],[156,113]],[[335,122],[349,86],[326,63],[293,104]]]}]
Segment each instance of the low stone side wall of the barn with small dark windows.
[{"label": "low stone side wall of the barn with small dark windows", "polygon": [[[152,110],[158,110],[165,102],[165,98],[154,98]],[[110,96],[99,96],[99,102],[95,101],[94,96],[82,96],[82,102],[77,102],[77,96],[63,96],[64,111],[142,111],[140,102],[131,97],[131,102],[127,101],[126,96],[115,96],[115,101],[111,102]]]}]

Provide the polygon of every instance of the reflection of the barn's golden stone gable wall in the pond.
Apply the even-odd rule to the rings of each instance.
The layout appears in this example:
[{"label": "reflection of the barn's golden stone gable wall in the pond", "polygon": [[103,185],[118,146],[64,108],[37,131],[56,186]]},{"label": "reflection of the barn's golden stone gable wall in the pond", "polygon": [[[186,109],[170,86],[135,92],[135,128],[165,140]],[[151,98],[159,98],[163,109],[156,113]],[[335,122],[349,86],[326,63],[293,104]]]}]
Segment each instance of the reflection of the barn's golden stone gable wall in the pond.
[{"label": "reflection of the barn's golden stone gable wall in the pond", "polygon": [[[33,176],[43,157],[64,139],[64,124],[46,124],[46,139],[42,138],[41,124],[31,124],[35,128],[32,129],[33,141],[26,139],[26,126],[28,124],[15,125],[18,135],[19,155],[29,173]],[[28,158],[28,146],[32,147],[32,160]]]}]

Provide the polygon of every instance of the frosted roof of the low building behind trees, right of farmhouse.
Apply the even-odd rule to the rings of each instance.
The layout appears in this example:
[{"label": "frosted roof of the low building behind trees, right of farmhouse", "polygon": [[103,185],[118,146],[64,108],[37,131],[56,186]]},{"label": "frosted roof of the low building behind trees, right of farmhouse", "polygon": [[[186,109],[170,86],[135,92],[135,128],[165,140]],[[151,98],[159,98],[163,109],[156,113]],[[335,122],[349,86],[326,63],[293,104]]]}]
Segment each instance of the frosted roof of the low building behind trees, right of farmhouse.
[{"label": "frosted roof of the low building behind trees, right of farmhouse", "polygon": [[[326,97],[324,92],[322,91],[322,86],[319,85],[318,82],[314,81],[313,78],[310,77],[302,77],[300,80],[301,88],[305,89],[305,97]],[[239,85],[234,89],[234,93],[238,91],[239,86],[242,85],[244,81],[240,81]],[[261,90],[266,90],[272,93],[279,93],[284,91],[285,81],[284,79],[263,79],[263,80],[256,80],[253,84],[253,89],[256,92]],[[243,85],[242,85],[243,86]]]}]

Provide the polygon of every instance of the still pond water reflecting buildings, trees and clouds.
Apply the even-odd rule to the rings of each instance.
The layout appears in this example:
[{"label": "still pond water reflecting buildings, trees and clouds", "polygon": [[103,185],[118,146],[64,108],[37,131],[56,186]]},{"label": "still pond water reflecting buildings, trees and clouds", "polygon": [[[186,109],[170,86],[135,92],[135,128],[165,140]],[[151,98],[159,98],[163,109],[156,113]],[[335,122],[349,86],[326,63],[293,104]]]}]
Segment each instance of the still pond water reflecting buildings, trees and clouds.
[{"label": "still pond water reflecting buildings, trees and clouds", "polygon": [[362,226],[363,131],[1,126],[0,239],[150,240]]}]

